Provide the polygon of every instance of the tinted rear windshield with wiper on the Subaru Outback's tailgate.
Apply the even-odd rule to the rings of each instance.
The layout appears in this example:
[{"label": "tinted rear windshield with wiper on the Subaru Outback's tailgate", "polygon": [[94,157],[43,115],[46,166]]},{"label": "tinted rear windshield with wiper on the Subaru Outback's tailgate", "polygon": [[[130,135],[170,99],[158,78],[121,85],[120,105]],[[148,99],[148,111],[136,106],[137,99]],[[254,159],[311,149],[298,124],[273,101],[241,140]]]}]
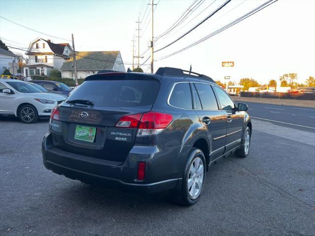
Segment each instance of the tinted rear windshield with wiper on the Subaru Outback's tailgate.
[{"label": "tinted rear windshield with wiper on the Subaru Outback's tailgate", "polygon": [[159,82],[155,80],[91,80],[85,81],[69,100],[91,100],[99,107],[139,107],[152,105]]}]

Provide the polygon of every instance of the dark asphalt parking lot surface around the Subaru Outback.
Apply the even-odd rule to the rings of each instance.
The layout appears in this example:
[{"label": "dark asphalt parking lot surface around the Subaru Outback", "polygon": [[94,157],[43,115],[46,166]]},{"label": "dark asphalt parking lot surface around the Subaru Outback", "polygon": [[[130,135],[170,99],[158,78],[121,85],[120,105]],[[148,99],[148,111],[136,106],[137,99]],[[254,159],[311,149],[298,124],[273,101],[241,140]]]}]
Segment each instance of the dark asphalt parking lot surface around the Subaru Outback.
[{"label": "dark asphalt parking lot surface around the Subaru Outback", "polygon": [[297,140],[294,127],[273,134],[269,124],[253,119],[250,155],[218,161],[198,203],[181,207],[166,192],[137,195],[58,176],[41,160],[47,120],[0,117],[0,235],[315,235],[315,141]]}]

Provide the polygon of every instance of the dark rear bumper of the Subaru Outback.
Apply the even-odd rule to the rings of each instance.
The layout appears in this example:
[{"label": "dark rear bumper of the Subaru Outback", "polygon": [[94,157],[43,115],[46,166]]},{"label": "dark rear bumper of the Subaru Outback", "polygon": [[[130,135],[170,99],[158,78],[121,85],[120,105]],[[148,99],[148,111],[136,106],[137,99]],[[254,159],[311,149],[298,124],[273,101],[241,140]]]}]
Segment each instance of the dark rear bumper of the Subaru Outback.
[{"label": "dark rear bumper of the Subaru Outback", "polygon": [[[63,175],[71,179],[77,179],[85,183],[90,183],[106,188],[121,189],[136,193],[155,193],[167,189],[180,188],[181,178],[173,173],[163,174],[164,177],[152,178],[158,176],[154,173],[152,166],[152,155],[154,153],[141,153],[135,157],[132,153],[132,158],[127,158],[125,162],[116,162],[102,160],[93,157],[82,156],[52,146],[52,138],[50,133],[47,133],[42,143],[42,154],[44,166],[52,172]],[[147,181],[136,181],[136,162],[131,163],[132,160],[141,161],[146,160],[147,167],[146,178]],[[151,160],[151,161],[150,161]],[[150,162],[150,163],[149,163]]]}]

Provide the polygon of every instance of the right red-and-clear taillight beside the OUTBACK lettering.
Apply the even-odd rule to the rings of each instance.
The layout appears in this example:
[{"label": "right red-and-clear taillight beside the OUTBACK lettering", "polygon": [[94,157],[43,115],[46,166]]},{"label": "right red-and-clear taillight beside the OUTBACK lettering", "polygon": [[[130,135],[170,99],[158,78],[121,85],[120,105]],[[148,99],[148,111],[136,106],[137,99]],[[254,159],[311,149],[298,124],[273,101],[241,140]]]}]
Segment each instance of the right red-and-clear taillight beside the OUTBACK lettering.
[{"label": "right red-and-clear taillight beside the OUTBACK lettering", "polygon": [[[141,117],[142,116],[142,117]],[[173,120],[172,115],[148,112],[122,117],[116,127],[138,128],[137,136],[158,134],[165,129]]]}]

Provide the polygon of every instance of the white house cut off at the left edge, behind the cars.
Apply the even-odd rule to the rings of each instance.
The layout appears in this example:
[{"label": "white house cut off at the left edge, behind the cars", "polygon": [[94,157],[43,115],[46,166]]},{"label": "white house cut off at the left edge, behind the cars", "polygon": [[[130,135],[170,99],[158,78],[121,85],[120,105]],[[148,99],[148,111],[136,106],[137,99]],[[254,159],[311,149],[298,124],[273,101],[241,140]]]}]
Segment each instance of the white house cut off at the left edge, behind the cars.
[{"label": "white house cut off at the left edge, behind the cars", "polygon": [[11,74],[16,74],[18,72],[18,56],[0,48],[0,75],[5,69],[9,69]]}]

